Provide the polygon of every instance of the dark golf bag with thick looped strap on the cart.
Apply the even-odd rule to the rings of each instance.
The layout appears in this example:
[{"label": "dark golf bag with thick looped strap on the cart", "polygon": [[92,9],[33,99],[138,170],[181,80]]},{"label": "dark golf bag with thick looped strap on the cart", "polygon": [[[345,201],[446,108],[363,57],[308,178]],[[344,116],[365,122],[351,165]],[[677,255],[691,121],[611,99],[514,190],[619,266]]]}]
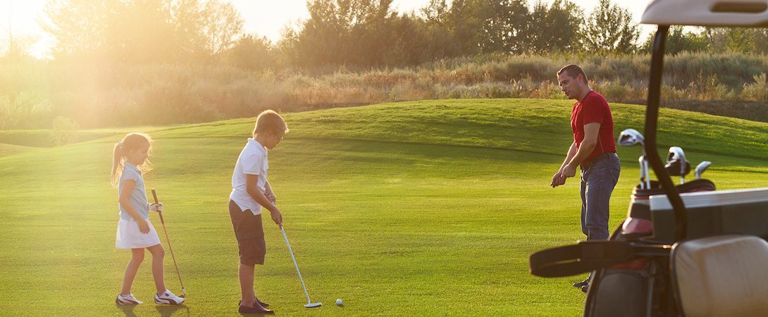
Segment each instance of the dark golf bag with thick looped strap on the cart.
[{"label": "dark golf bag with thick looped strap on the cart", "polygon": [[[712,191],[715,185],[710,180],[694,180],[677,190]],[[650,213],[648,198],[658,194],[664,191],[655,181],[650,189],[635,187],[627,218],[608,241],[582,241],[534,253],[531,272],[545,277],[592,272],[585,316],[678,315],[668,265],[670,246],[655,239]]]}]

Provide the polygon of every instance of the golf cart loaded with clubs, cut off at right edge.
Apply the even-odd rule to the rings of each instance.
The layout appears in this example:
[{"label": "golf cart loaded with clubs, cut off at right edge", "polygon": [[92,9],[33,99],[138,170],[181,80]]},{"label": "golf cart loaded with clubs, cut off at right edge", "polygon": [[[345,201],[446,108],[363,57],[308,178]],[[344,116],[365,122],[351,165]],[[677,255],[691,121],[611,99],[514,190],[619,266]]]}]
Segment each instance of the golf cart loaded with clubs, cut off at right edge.
[{"label": "golf cart loaded with clubs, cut off at right edge", "polygon": [[[558,277],[592,272],[585,316],[768,316],[768,188],[718,191],[703,179],[676,186],[670,172],[677,168],[684,177],[687,162],[674,165],[668,160],[665,168],[656,143],[670,25],[768,27],[768,0],[654,0],[641,23],[658,29],[645,135],[628,129],[617,142],[644,147],[641,184],[634,189],[627,219],[608,241],[582,241],[532,254],[531,273]],[[668,158],[680,157],[678,149],[670,148]],[[644,179],[644,160],[658,180]]]}]

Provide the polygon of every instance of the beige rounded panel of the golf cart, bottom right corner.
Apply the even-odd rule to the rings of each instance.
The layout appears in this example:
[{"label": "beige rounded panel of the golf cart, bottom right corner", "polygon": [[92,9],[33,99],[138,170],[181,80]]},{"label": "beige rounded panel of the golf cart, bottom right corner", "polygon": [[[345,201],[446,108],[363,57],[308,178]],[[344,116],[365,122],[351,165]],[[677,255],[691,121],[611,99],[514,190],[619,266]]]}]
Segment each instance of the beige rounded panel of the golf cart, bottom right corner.
[{"label": "beige rounded panel of the golf cart, bottom right corner", "polygon": [[768,243],[723,235],[672,247],[671,275],[680,315],[768,316]]}]

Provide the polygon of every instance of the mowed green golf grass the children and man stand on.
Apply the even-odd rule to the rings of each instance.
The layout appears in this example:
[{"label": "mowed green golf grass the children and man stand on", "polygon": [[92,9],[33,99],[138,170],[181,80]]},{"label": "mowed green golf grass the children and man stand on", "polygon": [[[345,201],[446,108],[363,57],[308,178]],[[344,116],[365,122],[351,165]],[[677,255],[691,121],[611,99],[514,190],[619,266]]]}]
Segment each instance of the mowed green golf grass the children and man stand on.
[{"label": "mowed green golf grass the children and man stand on", "polygon": [[[265,217],[257,295],[280,315],[581,315],[584,276],[543,279],[528,255],[575,243],[578,180],[548,187],[571,144],[570,101],[450,100],[286,114],[269,179],[313,302]],[[644,107],[613,104],[615,133]],[[254,114],[255,115],[255,114]],[[719,189],[768,187],[768,124],[662,111],[660,147],[686,150]],[[152,303],[146,259],[118,307],[130,252],[114,248],[111,150],[121,136],[0,157],[0,315],[239,315],[230,177],[253,118],[151,132],[156,188],[188,302]],[[639,148],[620,148],[611,227],[624,219]],[[692,176],[690,176],[692,177]],[[159,218],[151,221],[165,236]],[[166,282],[181,292],[167,252]],[[333,304],[343,299],[343,307]]]}]

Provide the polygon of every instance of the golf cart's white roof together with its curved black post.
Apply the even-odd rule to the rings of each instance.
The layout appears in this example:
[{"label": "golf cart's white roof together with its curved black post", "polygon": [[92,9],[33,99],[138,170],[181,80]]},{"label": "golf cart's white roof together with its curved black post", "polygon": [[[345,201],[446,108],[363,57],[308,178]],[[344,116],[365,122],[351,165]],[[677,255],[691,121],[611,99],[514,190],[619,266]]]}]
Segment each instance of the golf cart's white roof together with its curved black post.
[{"label": "golf cart's white roof together with its curved black post", "polygon": [[650,60],[650,81],[645,114],[645,151],[650,166],[667,194],[675,218],[675,236],[686,238],[687,210],[680,199],[656,144],[657,121],[664,69],[664,41],[670,25],[711,27],[768,27],[768,0],[654,0],[645,9],[641,23],[658,25]]}]

